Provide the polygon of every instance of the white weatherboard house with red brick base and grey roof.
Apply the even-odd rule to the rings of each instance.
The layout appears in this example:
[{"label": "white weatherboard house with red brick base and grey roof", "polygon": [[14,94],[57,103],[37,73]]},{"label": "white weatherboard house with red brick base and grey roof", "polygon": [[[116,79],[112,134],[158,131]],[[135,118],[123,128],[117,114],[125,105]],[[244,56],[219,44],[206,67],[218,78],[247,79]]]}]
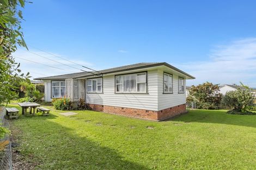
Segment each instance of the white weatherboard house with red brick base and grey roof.
[{"label": "white weatherboard house with red brick base and grey roof", "polygon": [[44,81],[46,102],[84,98],[95,111],[160,121],[186,112],[187,79],[194,77],[166,62],[143,62],[36,80]]}]

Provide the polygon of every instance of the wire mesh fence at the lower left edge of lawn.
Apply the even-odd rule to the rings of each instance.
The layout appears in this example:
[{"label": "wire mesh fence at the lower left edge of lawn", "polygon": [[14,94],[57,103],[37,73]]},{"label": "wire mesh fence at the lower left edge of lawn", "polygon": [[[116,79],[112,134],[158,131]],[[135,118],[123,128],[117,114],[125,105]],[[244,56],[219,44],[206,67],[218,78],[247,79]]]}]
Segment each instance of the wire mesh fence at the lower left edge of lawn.
[{"label": "wire mesh fence at the lower left edge of lawn", "polygon": [[[0,126],[3,126],[5,128],[9,129],[9,122],[7,119],[4,118],[5,115],[5,109],[0,108]],[[4,147],[3,150],[0,148],[0,169],[2,170],[13,170],[13,163],[11,161],[11,141],[10,136],[5,135],[3,138],[0,138],[0,145],[4,142],[9,142],[7,146]]]}]

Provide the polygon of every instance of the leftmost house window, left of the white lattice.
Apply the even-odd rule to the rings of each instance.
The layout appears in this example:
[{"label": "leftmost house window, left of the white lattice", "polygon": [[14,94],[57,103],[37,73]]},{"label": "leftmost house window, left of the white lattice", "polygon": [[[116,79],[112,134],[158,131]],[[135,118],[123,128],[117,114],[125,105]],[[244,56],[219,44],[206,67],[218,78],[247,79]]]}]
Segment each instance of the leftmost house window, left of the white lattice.
[{"label": "leftmost house window, left of the white lattice", "polygon": [[65,81],[52,81],[52,98],[62,98],[66,95]]}]

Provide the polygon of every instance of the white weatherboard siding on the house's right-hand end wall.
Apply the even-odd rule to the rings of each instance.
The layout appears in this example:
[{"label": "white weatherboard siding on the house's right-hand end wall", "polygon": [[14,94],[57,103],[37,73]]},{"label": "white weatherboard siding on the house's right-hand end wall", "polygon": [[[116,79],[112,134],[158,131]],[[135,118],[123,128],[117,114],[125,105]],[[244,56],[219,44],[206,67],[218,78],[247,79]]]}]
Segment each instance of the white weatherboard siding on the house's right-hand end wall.
[{"label": "white weatherboard siding on the house's right-hand end wall", "polygon": [[[186,103],[186,92],[178,93],[178,75],[173,74],[173,93],[163,93],[163,71],[159,70],[159,91],[158,91],[158,109],[163,110],[172,108],[177,105]],[[184,79],[184,86],[186,87],[186,79]]]}]

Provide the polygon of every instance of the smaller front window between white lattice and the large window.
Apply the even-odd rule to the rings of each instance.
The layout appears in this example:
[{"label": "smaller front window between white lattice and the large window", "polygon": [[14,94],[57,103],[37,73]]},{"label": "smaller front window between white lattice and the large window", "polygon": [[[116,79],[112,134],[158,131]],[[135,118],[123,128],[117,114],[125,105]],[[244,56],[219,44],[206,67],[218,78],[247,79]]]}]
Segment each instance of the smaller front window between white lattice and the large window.
[{"label": "smaller front window between white lattice and the large window", "polygon": [[87,79],[87,92],[88,93],[101,93],[102,92],[102,78]]}]

